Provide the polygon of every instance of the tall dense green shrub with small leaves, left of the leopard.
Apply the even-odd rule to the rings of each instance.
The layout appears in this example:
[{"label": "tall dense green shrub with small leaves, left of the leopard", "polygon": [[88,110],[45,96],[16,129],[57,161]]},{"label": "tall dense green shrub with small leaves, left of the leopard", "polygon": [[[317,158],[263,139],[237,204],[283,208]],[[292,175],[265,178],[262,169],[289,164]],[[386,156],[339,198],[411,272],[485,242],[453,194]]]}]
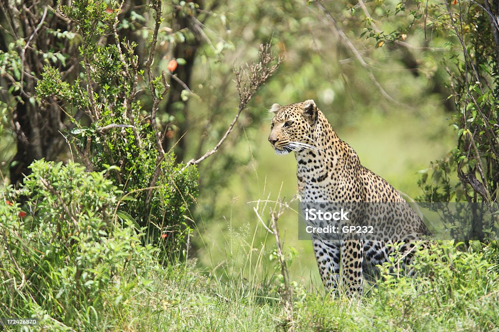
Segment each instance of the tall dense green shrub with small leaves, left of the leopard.
[{"label": "tall dense green shrub with small leaves, left of the leopard", "polygon": [[[192,167],[177,165],[173,154],[163,150],[156,112],[169,89],[167,74],[154,77],[151,63],[139,64],[136,43],[117,34],[118,3],[111,5],[113,10],[107,10],[106,2],[97,0],[61,7],[61,14],[76,24],[82,38],[82,73],[69,84],[57,68],[46,65],[36,93],[42,103],[55,98],[69,114],[74,125],[71,142],[87,170],[118,166],[109,177],[132,198],[123,201],[126,215],[120,217],[147,226],[148,241],[166,244],[165,254],[172,258],[190,232],[184,214],[197,196],[198,175]],[[114,36],[114,41],[98,43],[106,35]],[[153,44],[151,54],[154,49]],[[139,86],[139,80],[147,84]],[[149,90],[151,111],[137,98],[139,88]]]}]

